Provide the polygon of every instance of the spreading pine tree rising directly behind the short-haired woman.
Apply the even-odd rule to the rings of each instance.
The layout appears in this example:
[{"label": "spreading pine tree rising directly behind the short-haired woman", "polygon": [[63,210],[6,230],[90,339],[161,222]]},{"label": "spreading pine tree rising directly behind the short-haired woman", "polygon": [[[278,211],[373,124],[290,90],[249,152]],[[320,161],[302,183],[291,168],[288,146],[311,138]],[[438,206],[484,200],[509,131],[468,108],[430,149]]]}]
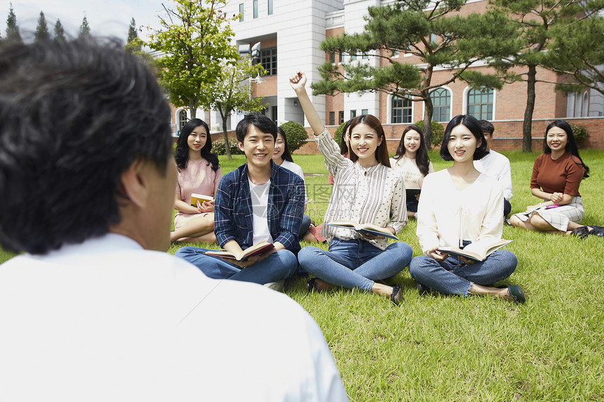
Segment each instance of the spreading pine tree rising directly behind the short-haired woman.
[{"label": "spreading pine tree rising directly behind the short-haired woman", "polygon": [[[494,74],[468,70],[481,59],[506,55],[516,48],[514,29],[496,11],[467,16],[459,14],[467,0],[400,0],[393,5],[368,8],[367,25],[360,34],[329,37],[321,44],[327,53],[348,53],[382,59],[379,66],[350,62],[343,69],[326,62],[322,81],[311,87],[315,95],[336,92],[381,91],[424,102],[424,138],[431,143],[433,104],[430,93],[457,79],[471,80],[473,88],[501,88]],[[398,62],[393,55],[410,53],[417,64]],[[435,81],[435,67],[451,74]]]}]

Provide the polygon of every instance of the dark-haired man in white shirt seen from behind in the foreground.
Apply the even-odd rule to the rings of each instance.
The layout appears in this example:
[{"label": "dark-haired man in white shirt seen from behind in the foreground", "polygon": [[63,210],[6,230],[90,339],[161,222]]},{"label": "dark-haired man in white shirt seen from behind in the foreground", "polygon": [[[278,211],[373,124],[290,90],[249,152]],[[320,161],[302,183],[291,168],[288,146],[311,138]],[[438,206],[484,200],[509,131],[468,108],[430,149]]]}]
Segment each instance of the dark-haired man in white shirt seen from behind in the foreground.
[{"label": "dark-haired man in white shirt seen from behind in the foreground", "polygon": [[169,121],[119,43],[0,43],[0,401],[345,401],[298,304],[164,253]]}]

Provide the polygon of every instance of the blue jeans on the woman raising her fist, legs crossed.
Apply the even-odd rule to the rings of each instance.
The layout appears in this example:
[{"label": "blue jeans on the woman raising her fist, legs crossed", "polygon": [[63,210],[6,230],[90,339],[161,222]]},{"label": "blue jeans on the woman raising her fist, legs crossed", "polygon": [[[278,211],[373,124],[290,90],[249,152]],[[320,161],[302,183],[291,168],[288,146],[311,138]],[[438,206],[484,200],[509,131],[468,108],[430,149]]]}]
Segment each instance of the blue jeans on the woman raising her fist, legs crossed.
[{"label": "blue jeans on the woman raising her fist, legs crossed", "polygon": [[306,272],[323,281],[368,292],[374,281],[390,278],[405,269],[412,255],[411,247],[402,241],[380,250],[364,240],[334,238],[329,251],[306,246],[298,253],[298,261]]}]

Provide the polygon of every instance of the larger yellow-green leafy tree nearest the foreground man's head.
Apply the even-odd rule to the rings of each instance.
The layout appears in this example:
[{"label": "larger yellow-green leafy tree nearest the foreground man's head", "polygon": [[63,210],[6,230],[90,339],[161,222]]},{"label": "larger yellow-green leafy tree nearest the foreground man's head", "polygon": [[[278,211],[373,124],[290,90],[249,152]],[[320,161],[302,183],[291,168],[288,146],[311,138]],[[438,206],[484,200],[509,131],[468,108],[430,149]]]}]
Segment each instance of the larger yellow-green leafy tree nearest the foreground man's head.
[{"label": "larger yellow-green leafy tree nearest the foreground man's head", "polygon": [[160,18],[162,30],[150,35],[150,48],[162,51],[157,58],[159,82],[176,107],[188,107],[194,118],[197,107],[209,108],[209,91],[227,63],[234,64],[237,49],[231,44],[233,36],[229,18],[219,6],[225,0],[173,0],[176,10],[166,8],[166,18]]}]

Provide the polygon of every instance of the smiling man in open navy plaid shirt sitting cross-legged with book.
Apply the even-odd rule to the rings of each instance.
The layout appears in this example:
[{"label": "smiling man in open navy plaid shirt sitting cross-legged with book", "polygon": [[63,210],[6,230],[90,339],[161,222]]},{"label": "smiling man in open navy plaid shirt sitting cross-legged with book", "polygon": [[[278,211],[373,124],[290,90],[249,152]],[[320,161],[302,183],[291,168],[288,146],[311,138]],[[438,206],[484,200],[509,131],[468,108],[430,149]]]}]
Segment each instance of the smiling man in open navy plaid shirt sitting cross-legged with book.
[{"label": "smiling man in open navy plaid shirt sitting cross-legged with book", "polygon": [[279,289],[296,272],[298,232],[304,210],[304,182],[273,162],[277,126],[260,113],[237,123],[237,145],[247,163],[224,175],[214,204],[214,233],[225,250],[239,254],[261,241],[275,248],[247,260],[223,260],[206,248],[183,247],[176,255],[210,278],[249,281]]}]

